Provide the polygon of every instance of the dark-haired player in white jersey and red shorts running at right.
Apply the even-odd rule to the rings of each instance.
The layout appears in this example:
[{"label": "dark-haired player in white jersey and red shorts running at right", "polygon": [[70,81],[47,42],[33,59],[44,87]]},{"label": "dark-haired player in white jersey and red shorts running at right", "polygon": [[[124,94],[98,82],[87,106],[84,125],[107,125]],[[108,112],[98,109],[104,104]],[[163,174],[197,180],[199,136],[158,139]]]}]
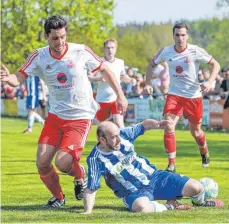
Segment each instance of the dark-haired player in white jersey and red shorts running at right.
[{"label": "dark-haired player in white jersey and red shorts running at right", "polygon": [[[175,45],[161,49],[148,65],[145,90],[151,91],[152,67],[166,61],[169,65],[170,86],[164,107],[164,119],[173,120],[172,125],[164,128],[164,146],[168,154],[167,170],[175,172],[176,138],[175,127],[183,114],[189,121],[189,129],[195,138],[202,157],[202,166],[208,167],[210,156],[204,131],[201,129],[203,115],[202,93],[211,89],[219,70],[219,63],[204,49],[188,44],[188,27],[178,23],[173,27]],[[200,85],[198,71],[200,62],[211,66],[211,75],[207,82]]]}]

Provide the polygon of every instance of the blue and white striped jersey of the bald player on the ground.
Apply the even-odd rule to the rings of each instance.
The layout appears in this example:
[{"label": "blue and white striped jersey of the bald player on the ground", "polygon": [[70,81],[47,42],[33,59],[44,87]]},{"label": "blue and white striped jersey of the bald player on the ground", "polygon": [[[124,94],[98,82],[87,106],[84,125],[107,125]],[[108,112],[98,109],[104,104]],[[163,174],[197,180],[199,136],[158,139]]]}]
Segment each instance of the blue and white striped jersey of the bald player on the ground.
[{"label": "blue and white striped jersey of the bald player on the ground", "polygon": [[118,197],[125,197],[150,184],[154,165],[134,151],[134,140],[144,133],[142,124],[120,130],[121,148],[119,151],[103,152],[97,145],[87,158],[88,189],[100,188],[100,177]]}]

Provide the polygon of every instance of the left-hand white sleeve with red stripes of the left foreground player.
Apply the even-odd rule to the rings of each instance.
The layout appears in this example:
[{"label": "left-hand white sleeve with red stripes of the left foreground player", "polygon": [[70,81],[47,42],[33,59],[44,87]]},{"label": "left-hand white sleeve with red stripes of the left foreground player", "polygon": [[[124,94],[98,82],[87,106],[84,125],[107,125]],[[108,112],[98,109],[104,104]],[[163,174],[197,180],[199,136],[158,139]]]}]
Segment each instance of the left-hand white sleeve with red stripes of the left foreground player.
[{"label": "left-hand white sleeve with red stripes of the left foreground player", "polygon": [[19,72],[21,72],[26,78],[30,75],[39,76],[38,72],[38,50],[34,51],[29,57],[27,61],[20,68]]}]

